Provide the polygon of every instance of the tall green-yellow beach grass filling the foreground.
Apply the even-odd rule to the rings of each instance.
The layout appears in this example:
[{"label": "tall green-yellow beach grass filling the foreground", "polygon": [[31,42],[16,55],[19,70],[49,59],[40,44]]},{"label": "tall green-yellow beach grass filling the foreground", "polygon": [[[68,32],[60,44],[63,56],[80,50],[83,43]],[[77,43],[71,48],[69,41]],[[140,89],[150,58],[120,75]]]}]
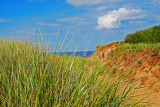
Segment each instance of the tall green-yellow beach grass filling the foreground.
[{"label": "tall green-yellow beach grass filling the foreground", "polygon": [[[135,106],[122,76],[101,77],[96,63],[49,54],[28,41],[0,40],[0,106]],[[126,88],[125,88],[126,87]]]}]

